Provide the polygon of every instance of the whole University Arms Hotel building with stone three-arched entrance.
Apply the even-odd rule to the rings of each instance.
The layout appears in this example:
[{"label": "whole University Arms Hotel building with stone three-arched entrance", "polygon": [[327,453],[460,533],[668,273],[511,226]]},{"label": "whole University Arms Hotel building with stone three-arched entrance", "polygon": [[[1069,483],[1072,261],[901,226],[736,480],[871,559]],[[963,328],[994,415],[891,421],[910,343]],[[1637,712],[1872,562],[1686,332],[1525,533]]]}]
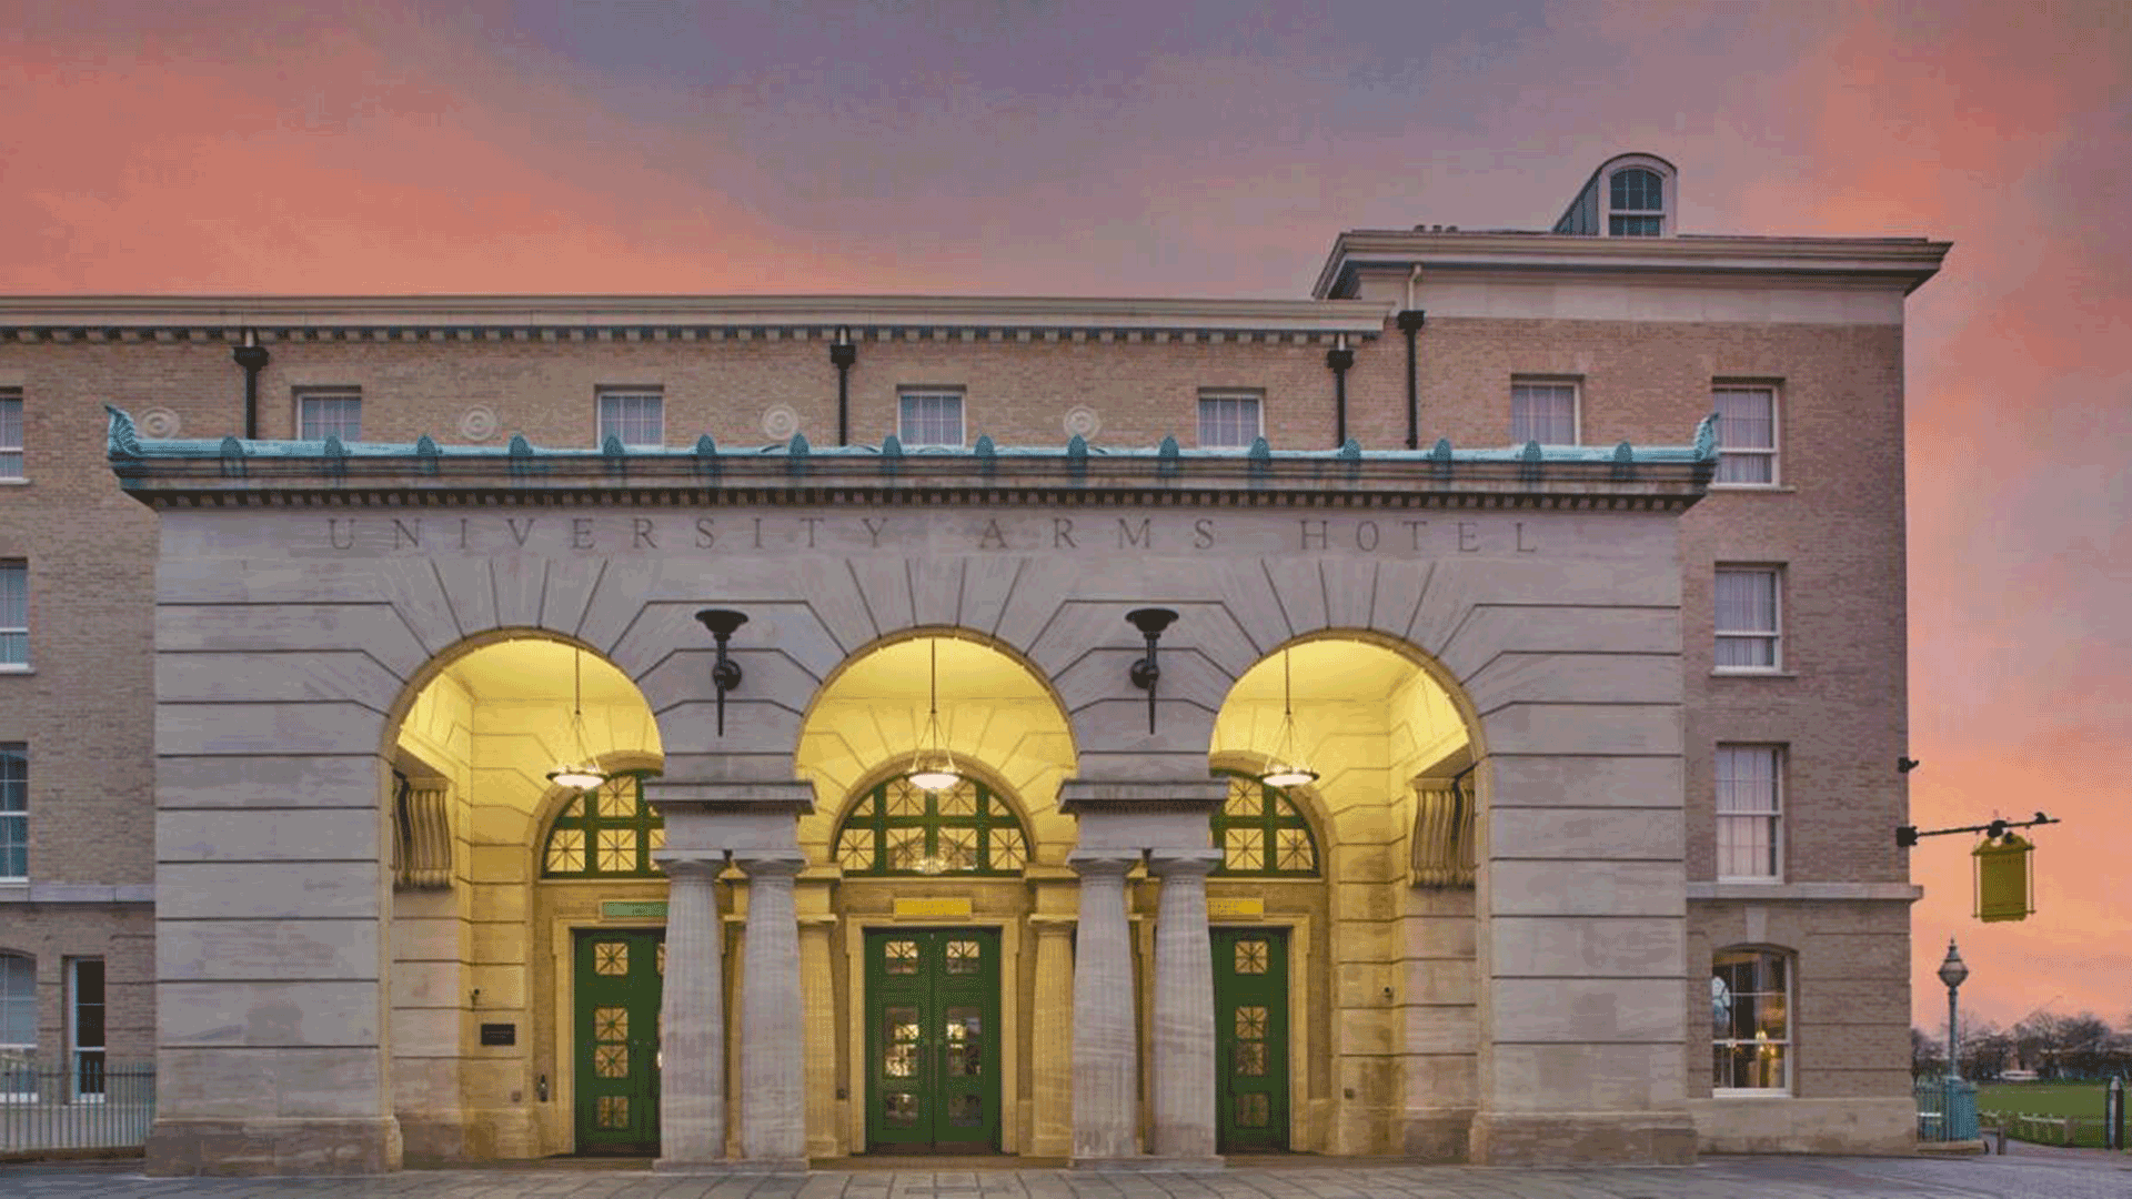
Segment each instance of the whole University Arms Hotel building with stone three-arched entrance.
[{"label": "whole University Arms Hotel building with stone three-arched entrance", "polygon": [[1674,188],[1303,301],[0,299],[0,1069],[164,1171],[1906,1146],[1947,245]]}]

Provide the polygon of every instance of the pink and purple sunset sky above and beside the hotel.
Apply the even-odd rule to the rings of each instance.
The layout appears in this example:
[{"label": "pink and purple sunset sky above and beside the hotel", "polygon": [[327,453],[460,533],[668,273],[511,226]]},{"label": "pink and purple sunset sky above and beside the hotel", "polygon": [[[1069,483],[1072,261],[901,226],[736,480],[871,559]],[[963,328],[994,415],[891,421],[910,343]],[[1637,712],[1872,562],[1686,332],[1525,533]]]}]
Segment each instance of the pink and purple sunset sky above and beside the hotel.
[{"label": "pink and purple sunset sky above and beside the hotel", "polygon": [[[1484,11],[1486,9],[1486,11]],[[2132,1024],[2132,6],[0,0],[0,292],[1303,297],[1341,228],[1955,241],[1910,299],[1915,1011]]]}]

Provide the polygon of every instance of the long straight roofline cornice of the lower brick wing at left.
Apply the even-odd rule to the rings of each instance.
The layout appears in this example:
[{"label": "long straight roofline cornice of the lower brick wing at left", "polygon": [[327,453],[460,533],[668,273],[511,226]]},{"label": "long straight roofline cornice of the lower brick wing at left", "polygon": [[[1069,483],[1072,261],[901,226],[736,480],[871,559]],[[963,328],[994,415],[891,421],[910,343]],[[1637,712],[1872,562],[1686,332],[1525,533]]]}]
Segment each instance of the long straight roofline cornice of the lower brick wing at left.
[{"label": "long straight roofline cornice of the lower brick wing at left", "polygon": [[0,341],[1296,341],[1367,301],[1053,297],[0,297]]}]

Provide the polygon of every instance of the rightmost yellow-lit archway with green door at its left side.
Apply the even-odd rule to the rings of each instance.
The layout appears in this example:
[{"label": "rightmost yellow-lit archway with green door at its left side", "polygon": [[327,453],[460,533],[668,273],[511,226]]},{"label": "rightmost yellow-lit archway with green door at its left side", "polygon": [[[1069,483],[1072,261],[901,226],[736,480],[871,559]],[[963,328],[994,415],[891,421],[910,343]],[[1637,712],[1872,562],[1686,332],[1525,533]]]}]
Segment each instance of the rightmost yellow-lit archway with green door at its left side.
[{"label": "rightmost yellow-lit archway with green door at its left side", "polygon": [[1375,634],[1292,640],[1230,687],[1207,885],[1224,1150],[1411,1152],[1420,1124],[1463,1154],[1475,728],[1435,661]]}]

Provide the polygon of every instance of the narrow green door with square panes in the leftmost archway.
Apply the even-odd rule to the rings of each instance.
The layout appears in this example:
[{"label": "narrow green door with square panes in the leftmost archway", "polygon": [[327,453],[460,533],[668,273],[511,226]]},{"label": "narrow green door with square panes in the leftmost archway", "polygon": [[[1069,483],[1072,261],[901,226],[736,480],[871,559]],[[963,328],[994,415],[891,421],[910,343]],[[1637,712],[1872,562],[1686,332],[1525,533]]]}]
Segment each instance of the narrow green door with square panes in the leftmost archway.
[{"label": "narrow green door with square panes in the leftmost archway", "polygon": [[659,1152],[665,932],[578,932],[578,1152]]}]

